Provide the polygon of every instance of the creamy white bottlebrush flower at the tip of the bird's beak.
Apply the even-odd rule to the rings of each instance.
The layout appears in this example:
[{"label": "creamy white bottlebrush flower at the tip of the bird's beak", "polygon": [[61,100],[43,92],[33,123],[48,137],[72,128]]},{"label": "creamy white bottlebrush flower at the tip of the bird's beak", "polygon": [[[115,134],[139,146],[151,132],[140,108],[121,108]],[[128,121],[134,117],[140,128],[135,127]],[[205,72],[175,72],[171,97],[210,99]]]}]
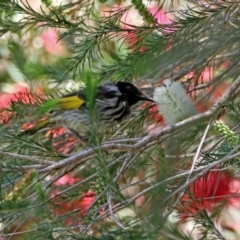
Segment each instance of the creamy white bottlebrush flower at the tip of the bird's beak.
[{"label": "creamy white bottlebrush flower at the tip of the bird's beak", "polygon": [[153,99],[167,125],[197,114],[192,100],[179,82],[165,80],[162,86],[155,89]]}]

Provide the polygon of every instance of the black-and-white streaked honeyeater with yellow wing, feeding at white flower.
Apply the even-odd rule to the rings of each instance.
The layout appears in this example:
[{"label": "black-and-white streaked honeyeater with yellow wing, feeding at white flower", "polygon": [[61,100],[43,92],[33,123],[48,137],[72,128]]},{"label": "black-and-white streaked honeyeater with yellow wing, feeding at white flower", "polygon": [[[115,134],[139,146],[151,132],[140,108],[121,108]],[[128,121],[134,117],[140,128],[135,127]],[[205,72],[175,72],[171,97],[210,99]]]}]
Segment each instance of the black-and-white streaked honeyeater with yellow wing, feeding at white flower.
[{"label": "black-and-white streaked honeyeater with yellow wing, feeding at white flower", "polygon": [[[140,100],[153,102],[131,83],[105,83],[98,86],[94,100],[97,127],[105,131],[120,123],[130,114],[130,107]],[[21,135],[33,135],[51,126],[64,126],[79,135],[86,134],[91,129],[91,114],[86,101],[84,89],[56,99],[56,110],[50,111],[46,120]]]}]

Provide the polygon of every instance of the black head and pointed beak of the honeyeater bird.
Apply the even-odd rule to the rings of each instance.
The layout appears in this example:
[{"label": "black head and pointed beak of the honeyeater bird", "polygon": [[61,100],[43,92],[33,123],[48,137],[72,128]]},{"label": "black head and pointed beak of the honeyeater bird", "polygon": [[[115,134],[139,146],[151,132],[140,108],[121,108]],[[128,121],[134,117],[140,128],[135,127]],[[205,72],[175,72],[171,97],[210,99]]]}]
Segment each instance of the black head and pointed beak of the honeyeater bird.
[{"label": "black head and pointed beak of the honeyeater bird", "polygon": [[127,100],[129,106],[134,105],[138,101],[154,102],[152,98],[144,95],[138,88],[129,82],[117,82],[116,86]]}]

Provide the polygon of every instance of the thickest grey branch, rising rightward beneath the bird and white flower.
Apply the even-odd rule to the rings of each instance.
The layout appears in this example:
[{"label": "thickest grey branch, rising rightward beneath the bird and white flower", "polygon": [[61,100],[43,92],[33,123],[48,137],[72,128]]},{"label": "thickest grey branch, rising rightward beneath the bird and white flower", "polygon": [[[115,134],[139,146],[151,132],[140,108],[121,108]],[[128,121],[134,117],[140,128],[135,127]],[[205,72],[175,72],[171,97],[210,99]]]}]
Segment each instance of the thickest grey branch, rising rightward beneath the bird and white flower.
[{"label": "thickest grey branch, rising rightward beneath the bird and white flower", "polygon": [[214,118],[217,115],[218,111],[222,108],[222,106],[228,100],[230,100],[234,95],[237,94],[239,87],[240,87],[240,76],[232,83],[232,85],[228,88],[225,94],[218,100],[217,103],[214,104],[214,106],[210,110],[204,113],[195,115],[193,117],[187,118],[172,126],[167,126],[163,130],[157,133],[143,137],[140,141],[138,141],[135,144],[104,144],[100,147],[86,149],[73,156],[70,156],[57,163],[54,163],[51,166],[44,167],[43,169],[38,170],[38,172],[39,173],[49,172],[52,170],[56,170],[56,169],[60,169],[65,166],[68,166],[71,163],[77,163],[78,165],[80,165],[84,163],[87,159],[89,159],[89,157],[95,156],[98,150],[101,150],[103,152],[108,152],[108,153],[111,153],[111,151],[113,150],[117,150],[118,152],[134,153],[139,151],[143,147],[146,147],[145,149],[147,149],[150,143],[153,143],[156,141],[159,142],[160,141],[159,139],[166,134],[173,133],[177,130],[179,131],[180,129],[184,129],[191,125],[197,124],[198,122],[202,122],[207,119]]}]

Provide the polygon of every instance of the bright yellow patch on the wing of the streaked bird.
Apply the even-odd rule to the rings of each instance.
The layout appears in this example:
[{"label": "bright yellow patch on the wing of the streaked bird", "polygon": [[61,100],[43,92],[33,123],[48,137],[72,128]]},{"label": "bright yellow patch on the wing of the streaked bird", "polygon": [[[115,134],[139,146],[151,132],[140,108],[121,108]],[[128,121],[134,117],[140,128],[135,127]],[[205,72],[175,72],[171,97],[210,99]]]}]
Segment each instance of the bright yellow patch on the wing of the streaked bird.
[{"label": "bright yellow patch on the wing of the streaked bird", "polygon": [[85,103],[85,101],[78,96],[71,96],[60,98],[57,105],[63,110],[74,110],[80,108],[83,103]]}]

